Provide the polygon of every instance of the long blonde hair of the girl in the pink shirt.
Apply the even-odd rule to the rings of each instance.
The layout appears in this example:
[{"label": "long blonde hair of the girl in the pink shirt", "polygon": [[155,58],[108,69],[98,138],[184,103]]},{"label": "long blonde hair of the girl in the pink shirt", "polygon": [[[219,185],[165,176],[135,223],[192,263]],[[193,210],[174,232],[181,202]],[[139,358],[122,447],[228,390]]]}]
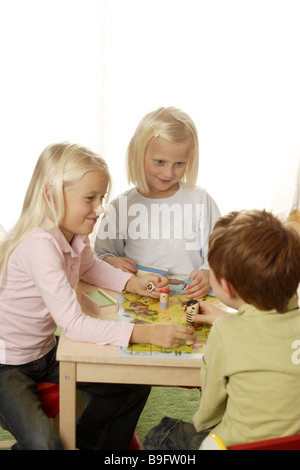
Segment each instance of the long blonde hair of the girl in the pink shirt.
[{"label": "long blonde hair of the girl in the pink shirt", "polygon": [[[14,249],[36,228],[50,231],[58,227],[65,212],[64,188],[93,170],[102,171],[107,176],[109,193],[109,170],[99,155],[69,142],[52,144],[45,148],[35,166],[21,216],[0,244],[1,287],[4,285],[7,263]],[[52,224],[49,224],[49,219]]]}]

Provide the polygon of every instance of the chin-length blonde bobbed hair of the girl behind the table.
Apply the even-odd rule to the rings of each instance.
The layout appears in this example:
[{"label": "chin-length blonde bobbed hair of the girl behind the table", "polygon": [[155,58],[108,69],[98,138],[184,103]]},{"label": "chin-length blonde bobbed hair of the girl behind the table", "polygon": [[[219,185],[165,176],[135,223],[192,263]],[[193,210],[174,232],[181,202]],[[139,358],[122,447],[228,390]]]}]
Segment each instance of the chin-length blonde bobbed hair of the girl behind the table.
[{"label": "chin-length blonde bobbed hair of the girl behind the table", "polygon": [[144,171],[144,156],[153,138],[161,137],[174,143],[191,139],[191,155],[183,176],[183,182],[191,188],[196,185],[199,165],[197,128],[192,119],[178,108],[158,108],[140,121],[130,140],[126,155],[128,183],[133,183],[142,193],[149,193]]}]

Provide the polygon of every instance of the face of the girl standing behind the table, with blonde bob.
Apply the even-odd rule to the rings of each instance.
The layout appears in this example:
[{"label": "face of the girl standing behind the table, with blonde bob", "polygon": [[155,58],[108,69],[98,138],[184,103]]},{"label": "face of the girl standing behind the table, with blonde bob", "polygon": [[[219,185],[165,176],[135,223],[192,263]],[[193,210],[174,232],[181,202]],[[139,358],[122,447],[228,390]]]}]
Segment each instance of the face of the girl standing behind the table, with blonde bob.
[{"label": "face of the girl standing behind the table, with blonde bob", "polygon": [[191,154],[191,140],[182,143],[169,142],[161,137],[153,138],[144,157],[146,181],[150,190],[147,197],[170,197],[178,191]]}]

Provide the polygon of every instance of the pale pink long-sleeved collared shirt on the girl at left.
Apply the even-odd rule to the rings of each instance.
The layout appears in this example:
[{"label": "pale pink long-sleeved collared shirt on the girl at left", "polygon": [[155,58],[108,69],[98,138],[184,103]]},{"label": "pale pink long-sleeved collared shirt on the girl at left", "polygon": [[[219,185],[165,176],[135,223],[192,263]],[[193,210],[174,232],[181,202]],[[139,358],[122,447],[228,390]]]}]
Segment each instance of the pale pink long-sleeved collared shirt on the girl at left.
[{"label": "pale pink long-sleeved collared shirt on the girl at left", "polygon": [[26,364],[55,346],[59,326],[72,340],[127,346],[133,326],[85,315],[77,300],[79,279],[121,292],[130,274],[100,261],[89,238],[71,244],[60,230],[37,230],[10,256],[0,290],[0,364]]}]

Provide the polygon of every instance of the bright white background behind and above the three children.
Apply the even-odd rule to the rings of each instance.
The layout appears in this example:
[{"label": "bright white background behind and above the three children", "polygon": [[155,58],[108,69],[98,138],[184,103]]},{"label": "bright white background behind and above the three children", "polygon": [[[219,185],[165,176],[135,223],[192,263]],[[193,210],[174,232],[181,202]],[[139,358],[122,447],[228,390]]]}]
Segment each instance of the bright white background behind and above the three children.
[{"label": "bright white background behind and above the three children", "polygon": [[115,194],[127,189],[127,144],[158,106],[194,119],[198,184],[221,212],[289,211],[299,21],[299,0],[0,0],[0,224],[50,142],[99,151]]}]

